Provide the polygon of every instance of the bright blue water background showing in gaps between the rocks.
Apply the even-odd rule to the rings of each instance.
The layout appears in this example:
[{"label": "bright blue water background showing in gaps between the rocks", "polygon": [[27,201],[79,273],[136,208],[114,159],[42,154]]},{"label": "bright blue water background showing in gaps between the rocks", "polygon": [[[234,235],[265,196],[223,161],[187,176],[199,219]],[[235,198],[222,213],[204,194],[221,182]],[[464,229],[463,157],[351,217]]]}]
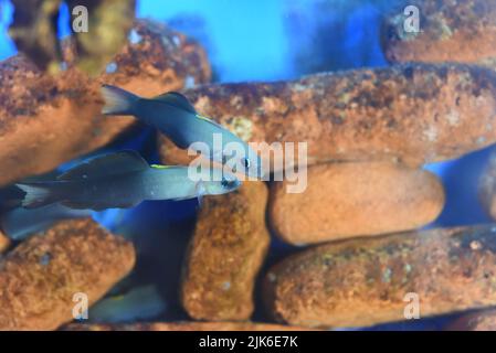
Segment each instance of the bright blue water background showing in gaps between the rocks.
[{"label": "bright blue water background showing in gaps between the rocks", "polygon": [[[139,0],[137,14],[167,21],[201,42],[209,53],[217,82],[277,81],[317,71],[388,65],[378,35],[381,14],[388,7],[374,6],[388,2],[362,1],[361,6],[352,6],[358,2],[350,1],[345,7],[346,11],[321,11],[317,1],[309,0]],[[14,55],[15,47],[7,35],[12,7],[7,0],[0,0],[0,7],[2,60]],[[67,19],[68,11],[64,8],[60,19],[61,36],[70,33]],[[133,147],[141,152],[147,150],[148,153],[144,154],[148,160],[156,160],[156,151],[147,147],[152,132],[144,129],[139,136],[138,139],[122,142],[119,148]],[[442,178],[447,201],[443,213],[431,226],[490,222],[476,197],[477,179],[490,150],[474,152],[455,161],[425,165],[425,169]],[[150,236],[159,237],[157,231],[151,231],[159,228],[154,223],[157,217],[152,215],[158,214],[159,220],[163,217],[175,222],[193,216],[194,202],[180,204],[144,203],[136,210],[124,213],[109,210],[95,217],[110,228],[116,226],[116,220],[122,220],[120,231],[130,234],[130,237],[133,234],[146,233],[143,227],[147,224],[149,233],[152,233]],[[123,221],[137,213],[146,215],[140,218],[139,227]],[[172,254],[177,255],[179,250],[173,244],[181,247],[186,243],[176,238],[175,234],[176,231],[169,233],[167,244],[173,249]],[[169,263],[163,266],[171,271]],[[172,269],[178,270],[176,267]],[[173,282],[171,287],[176,285]]]}]

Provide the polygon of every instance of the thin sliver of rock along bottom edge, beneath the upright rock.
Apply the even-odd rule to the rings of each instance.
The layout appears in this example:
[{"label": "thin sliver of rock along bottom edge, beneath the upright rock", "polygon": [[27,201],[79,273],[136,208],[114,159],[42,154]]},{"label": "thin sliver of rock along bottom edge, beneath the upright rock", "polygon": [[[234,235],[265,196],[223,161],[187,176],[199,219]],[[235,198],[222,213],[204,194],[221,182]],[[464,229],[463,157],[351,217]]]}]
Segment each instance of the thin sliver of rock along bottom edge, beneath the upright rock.
[{"label": "thin sliver of rock along bottom edge, beneath the upright rock", "polygon": [[63,328],[66,331],[305,331],[282,324],[258,322],[145,322],[130,324],[81,324],[72,323]]}]

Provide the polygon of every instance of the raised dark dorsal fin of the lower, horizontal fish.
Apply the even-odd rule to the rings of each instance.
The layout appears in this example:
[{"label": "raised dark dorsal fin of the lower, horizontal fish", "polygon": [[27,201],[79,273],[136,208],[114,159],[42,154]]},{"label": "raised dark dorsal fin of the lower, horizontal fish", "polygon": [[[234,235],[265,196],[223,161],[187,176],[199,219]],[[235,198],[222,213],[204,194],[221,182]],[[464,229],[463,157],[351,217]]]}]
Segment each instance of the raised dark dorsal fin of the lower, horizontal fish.
[{"label": "raised dark dorsal fin of the lower, horizontal fish", "polygon": [[98,179],[126,172],[143,171],[147,168],[148,163],[139,153],[125,150],[91,159],[59,175],[57,180]]}]

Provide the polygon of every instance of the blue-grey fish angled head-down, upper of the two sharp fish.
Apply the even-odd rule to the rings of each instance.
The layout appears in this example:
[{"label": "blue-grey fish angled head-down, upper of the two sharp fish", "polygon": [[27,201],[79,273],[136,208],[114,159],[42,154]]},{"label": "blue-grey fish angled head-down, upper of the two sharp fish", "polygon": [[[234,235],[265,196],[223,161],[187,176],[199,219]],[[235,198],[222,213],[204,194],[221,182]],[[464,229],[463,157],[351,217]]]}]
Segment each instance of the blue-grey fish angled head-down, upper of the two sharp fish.
[{"label": "blue-grey fish angled head-down, upper of the two sharp fish", "polygon": [[[116,86],[103,85],[104,115],[134,116],[166,135],[181,149],[192,148],[212,161],[228,164],[233,172],[255,179],[264,176],[260,156],[240,137],[194,109],[187,97],[169,92],[154,98],[139,97]],[[220,137],[220,142],[214,137]],[[196,149],[203,142],[208,149]]]}]

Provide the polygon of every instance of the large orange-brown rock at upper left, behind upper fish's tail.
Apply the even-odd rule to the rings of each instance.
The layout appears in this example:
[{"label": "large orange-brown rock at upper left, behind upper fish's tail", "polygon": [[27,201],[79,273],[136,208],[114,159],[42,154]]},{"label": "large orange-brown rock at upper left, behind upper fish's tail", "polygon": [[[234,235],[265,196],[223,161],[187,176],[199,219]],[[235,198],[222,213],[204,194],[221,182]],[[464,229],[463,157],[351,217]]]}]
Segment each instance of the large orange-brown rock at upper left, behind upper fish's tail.
[{"label": "large orange-brown rock at upper left, behind upper fish's tail", "polygon": [[21,55],[0,63],[0,185],[52,170],[113,140],[131,126],[129,117],[101,115],[101,83],[150,95],[207,82],[204,51],[177,32],[139,21],[129,43],[96,79],[73,67],[45,75]]}]

